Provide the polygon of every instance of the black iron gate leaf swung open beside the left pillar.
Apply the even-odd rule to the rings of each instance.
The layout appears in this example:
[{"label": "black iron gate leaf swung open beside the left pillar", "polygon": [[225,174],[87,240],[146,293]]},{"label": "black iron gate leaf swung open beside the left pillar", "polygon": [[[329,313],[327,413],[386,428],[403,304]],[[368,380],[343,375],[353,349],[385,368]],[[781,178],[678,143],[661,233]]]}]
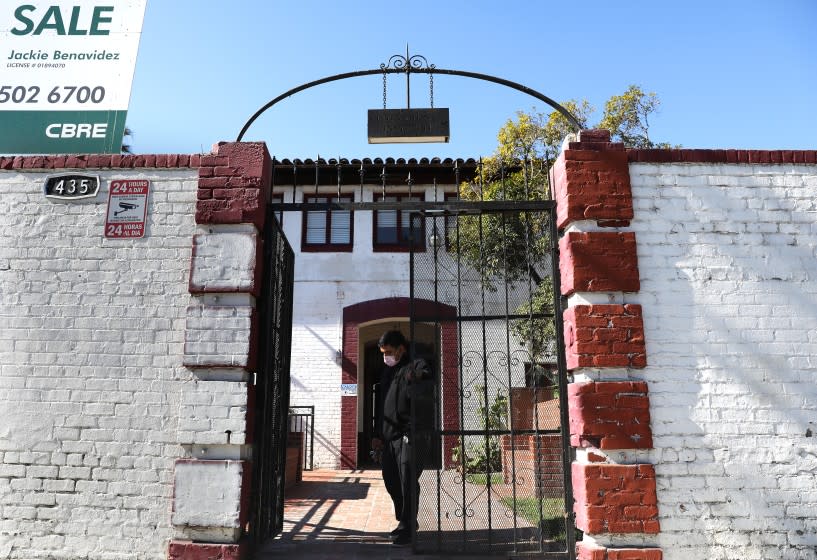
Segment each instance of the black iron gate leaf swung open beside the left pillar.
[{"label": "black iron gate leaf swung open beside the left pillar", "polygon": [[255,383],[256,443],[250,518],[254,545],[280,533],[284,520],[294,260],[274,212],[268,210],[264,234],[266,278],[259,305],[260,363]]}]

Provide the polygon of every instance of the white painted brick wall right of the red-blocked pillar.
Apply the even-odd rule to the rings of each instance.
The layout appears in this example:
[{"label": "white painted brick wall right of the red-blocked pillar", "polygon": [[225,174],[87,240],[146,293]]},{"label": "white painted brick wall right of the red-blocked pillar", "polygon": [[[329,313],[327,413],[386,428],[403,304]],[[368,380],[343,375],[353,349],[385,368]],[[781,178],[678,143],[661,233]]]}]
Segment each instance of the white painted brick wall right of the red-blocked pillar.
[{"label": "white painted brick wall right of the red-blocked pillar", "polygon": [[630,172],[657,544],[817,558],[817,167]]}]

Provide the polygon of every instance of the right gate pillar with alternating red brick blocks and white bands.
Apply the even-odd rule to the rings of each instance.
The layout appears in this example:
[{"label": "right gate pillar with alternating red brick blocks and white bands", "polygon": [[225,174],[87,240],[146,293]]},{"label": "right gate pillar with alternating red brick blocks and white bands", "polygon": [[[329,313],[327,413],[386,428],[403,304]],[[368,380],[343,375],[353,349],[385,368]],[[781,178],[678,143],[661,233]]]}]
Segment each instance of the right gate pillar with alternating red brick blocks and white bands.
[{"label": "right gate pillar with alternating red brick blocks and white bands", "polygon": [[[658,548],[622,548],[631,535],[648,542],[659,531],[655,470],[619,464],[619,450],[652,447],[635,233],[627,152],[606,130],[584,130],[551,170],[557,203],[559,270],[567,368],[576,526],[591,541],[579,560],[660,560]],[[615,541],[612,535],[617,538]],[[622,539],[621,537],[624,537]],[[612,543],[617,543],[613,545]]]}]

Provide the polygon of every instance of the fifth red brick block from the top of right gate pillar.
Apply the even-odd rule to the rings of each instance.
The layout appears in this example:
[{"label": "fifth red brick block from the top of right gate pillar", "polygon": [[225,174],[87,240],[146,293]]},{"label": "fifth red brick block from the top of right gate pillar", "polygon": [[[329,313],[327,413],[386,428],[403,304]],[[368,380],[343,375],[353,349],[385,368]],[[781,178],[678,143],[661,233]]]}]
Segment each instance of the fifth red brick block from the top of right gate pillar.
[{"label": "fifth red brick block from the top of right gate pillar", "polygon": [[652,465],[573,463],[576,527],[590,534],[658,533]]}]

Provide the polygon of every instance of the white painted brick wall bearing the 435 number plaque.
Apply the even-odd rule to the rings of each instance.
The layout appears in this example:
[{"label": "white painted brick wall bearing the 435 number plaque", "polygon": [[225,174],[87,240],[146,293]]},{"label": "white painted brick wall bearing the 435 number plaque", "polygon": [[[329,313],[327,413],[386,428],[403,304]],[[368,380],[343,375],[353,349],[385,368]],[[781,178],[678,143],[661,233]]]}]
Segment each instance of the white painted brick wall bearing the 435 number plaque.
[{"label": "white painted brick wall bearing the 435 number plaque", "polygon": [[[0,558],[156,558],[172,535],[196,170],[100,171],[98,198],[0,171]],[[103,237],[111,179],[147,235]]]}]

